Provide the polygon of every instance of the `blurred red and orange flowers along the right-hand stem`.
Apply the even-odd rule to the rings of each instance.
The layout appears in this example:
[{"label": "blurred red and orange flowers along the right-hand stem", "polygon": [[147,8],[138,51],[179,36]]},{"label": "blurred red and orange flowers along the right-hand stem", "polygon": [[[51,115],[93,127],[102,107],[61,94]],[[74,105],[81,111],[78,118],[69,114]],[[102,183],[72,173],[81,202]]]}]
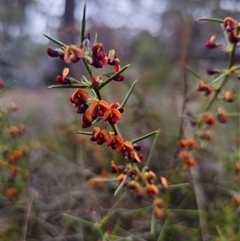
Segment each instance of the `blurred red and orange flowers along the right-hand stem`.
[{"label": "blurred red and orange flowers along the right-hand stem", "polygon": [[[229,33],[228,41],[230,44],[237,44],[240,41],[240,37],[237,36],[237,31],[239,27],[240,27],[239,23],[233,18],[227,17],[224,19],[222,30],[227,31]],[[208,49],[213,49],[213,48],[222,46],[216,43],[215,41],[216,41],[216,36],[213,35],[210,38],[210,40],[205,43],[205,47]],[[229,66],[229,69],[231,67],[232,66]],[[222,74],[223,76],[222,78],[227,78],[226,76],[229,75],[230,72],[231,74],[234,74],[234,75],[237,73],[237,71],[235,71],[234,68],[233,70],[230,69],[229,73],[226,73],[226,71],[227,70],[207,69],[206,73],[208,75]],[[235,99],[233,92],[231,90],[225,90],[224,93],[221,94],[220,92],[222,91],[222,85],[214,88],[214,84],[213,84],[214,82],[216,82],[216,79],[215,81],[212,82],[212,84],[206,80],[200,79],[197,91],[203,92],[205,96],[209,96],[212,92],[214,92],[213,100],[215,98],[218,98],[218,100],[220,100],[222,103],[233,102]],[[187,115],[189,116],[190,122],[193,126],[200,127],[198,131],[195,133],[196,136],[206,141],[211,140],[211,136],[212,136],[211,127],[213,127],[217,121],[220,123],[226,123],[229,118],[228,114],[222,108],[218,108],[218,111],[216,114],[208,112],[208,108],[207,108],[207,111],[200,114],[199,117],[193,117],[191,113],[187,113]],[[197,158],[193,154],[193,153],[196,153],[193,150],[195,150],[198,146],[197,141],[194,138],[180,139],[177,142],[177,145],[181,150],[179,152],[179,158],[184,161],[184,167],[189,170],[197,163]]]}]

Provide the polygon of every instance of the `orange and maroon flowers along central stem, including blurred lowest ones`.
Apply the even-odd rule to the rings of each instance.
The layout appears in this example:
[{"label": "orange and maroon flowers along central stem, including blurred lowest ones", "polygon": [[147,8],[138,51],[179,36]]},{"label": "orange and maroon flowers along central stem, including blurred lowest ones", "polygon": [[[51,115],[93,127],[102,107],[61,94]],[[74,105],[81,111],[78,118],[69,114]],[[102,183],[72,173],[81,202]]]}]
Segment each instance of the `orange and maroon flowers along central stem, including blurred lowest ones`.
[{"label": "orange and maroon flowers along central stem, including blurred lowest ones", "polygon": [[[84,81],[77,81],[72,77],[68,77],[69,69],[64,68],[61,75],[56,77],[56,81],[61,85],[82,84],[78,87],[70,101],[77,109],[78,114],[82,114],[82,128],[93,127],[90,140],[98,145],[106,143],[108,147],[123,155],[129,162],[124,166],[116,165],[114,161],[111,163],[112,172],[118,173],[118,185],[124,186],[136,197],[141,197],[143,194],[150,198],[154,198],[153,208],[157,218],[163,217],[163,201],[156,196],[159,194],[159,188],[155,184],[156,174],[147,168],[140,171],[137,164],[141,162],[143,155],[138,153],[141,146],[130,141],[126,141],[119,134],[115,124],[122,119],[124,112],[123,106],[118,102],[108,103],[102,98],[100,89],[104,84],[103,76],[107,76],[114,81],[123,81],[124,76],[121,72],[120,60],[116,57],[115,51],[110,50],[107,55],[104,51],[102,43],[96,43],[92,48],[90,45],[89,35],[83,41],[82,46],[63,45],[59,49],[47,49],[47,53],[51,57],[60,57],[66,63],[75,63],[80,59],[84,59],[85,66],[89,73],[90,79],[84,78]],[[102,68],[105,65],[113,66],[113,72],[94,76],[91,67]],[[90,96],[91,90],[94,96]],[[111,126],[111,131],[96,126],[98,121],[108,122]]]}]

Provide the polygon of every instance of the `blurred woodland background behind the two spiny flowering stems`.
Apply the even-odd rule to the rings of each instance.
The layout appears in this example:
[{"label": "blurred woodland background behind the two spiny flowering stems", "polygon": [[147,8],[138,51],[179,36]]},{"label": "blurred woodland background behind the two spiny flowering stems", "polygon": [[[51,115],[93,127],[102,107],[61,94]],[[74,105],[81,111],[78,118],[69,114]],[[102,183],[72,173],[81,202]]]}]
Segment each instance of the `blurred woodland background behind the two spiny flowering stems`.
[{"label": "blurred woodland background behind the two spiny flowering stems", "polygon": [[[164,9],[158,11],[162,9],[161,4]],[[47,89],[65,65],[48,58],[49,43],[40,35],[32,35],[37,31],[31,28],[37,28],[37,24],[31,25],[34,20],[31,12],[36,14],[36,21],[42,19],[46,23],[41,32],[71,44],[79,41],[82,5],[82,1],[73,0],[63,1],[60,7],[52,3],[48,8],[44,1],[4,0],[2,3],[1,78],[6,86],[16,81],[1,92],[0,234],[3,240],[98,240],[101,235],[94,227],[72,216],[98,222],[109,213],[110,218],[105,222],[109,235],[129,237],[116,236],[109,240],[202,240],[200,213],[205,216],[208,240],[238,240],[240,200],[235,195],[240,191],[238,115],[227,124],[217,124],[208,133],[211,142],[203,142],[197,184],[174,155],[184,75],[189,111],[198,113],[207,103],[196,92],[198,79],[186,72],[186,65],[201,78],[211,79],[205,73],[206,68],[221,69],[228,61],[226,53],[204,49],[204,43],[213,34],[224,43],[221,27],[196,20],[207,16],[222,19],[231,16],[240,20],[239,3],[175,0],[144,5],[144,1],[131,1],[131,4],[126,2],[126,8],[130,8],[128,14],[111,1],[88,2],[87,32],[91,33],[91,40],[97,32],[107,50],[116,50],[122,65],[131,63],[124,84],[119,87],[111,83],[104,94],[110,100],[122,100],[122,93],[138,79],[125,108],[127,114],[119,124],[122,134],[134,139],[160,129],[150,168],[172,184],[190,183],[182,188],[162,188],[160,196],[168,199],[166,209],[171,215],[157,221],[156,230],[162,232],[160,237],[157,232],[149,232],[151,199],[136,201],[131,193],[119,198],[113,196],[116,182],[94,181],[96,177],[113,178],[109,174],[111,160],[121,163],[122,157],[89,142],[88,137],[75,134],[81,123],[69,101],[72,91]],[[140,18],[141,11],[146,13],[144,20]],[[138,19],[144,26],[150,18],[158,23],[157,30],[137,27]],[[114,23],[117,28],[113,28]],[[236,65],[239,59],[238,48]],[[70,68],[78,78],[85,74],[79,65]],[[230,87],[239,89],[237,79]],[[239,93],[235,94],[235,101],[224,105],[229,113],[240,111]],[[218,106],[219,103],[213,105],[215,112]],[[147,156],[152,140],[141,144]],[[204,210],[199,210],[193,185],[203,192],[200,196],[204,198]]]}]

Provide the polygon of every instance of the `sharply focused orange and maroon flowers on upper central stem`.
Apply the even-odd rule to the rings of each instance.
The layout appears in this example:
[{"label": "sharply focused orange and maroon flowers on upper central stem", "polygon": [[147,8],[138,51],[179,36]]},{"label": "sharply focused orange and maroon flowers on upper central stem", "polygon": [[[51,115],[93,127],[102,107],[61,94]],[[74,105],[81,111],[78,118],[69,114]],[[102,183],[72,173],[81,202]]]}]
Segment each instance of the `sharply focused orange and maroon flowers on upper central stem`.
[{"label": "sharply focused orange and maroon flowers on upper central stem", "polygon": [[[90,37],[89,34],[83,42],[83,47],[77,47],[75,45],[63,46],[59,49],[48,48],[47,53],[51,57],[60,57],[66,63],[76,63],[80,59],[87,59],[87,64],[95,68],[102,68],[104,65],[113,66],[113,75],[117,73],[120,67],[120,60],[115,56],[115,51],[110,50],[107,56],[104,46],[102,43],[96,43],[90,49]],[[87,56],[87,57],[86,57]],[[71,77],[68,77],[69,69],[64,68],[61,75],[56,77],[56,81],[62,85],[71,85],[72,83],[79,83]],[[94,77],[90,74],[91,80],[85,88],[77,88],[70,101],[73,106],[77,109],[78,114],[82,114],[82,128],[90,127],[94,121],[103,120],[104,122],[109,122],[114,128],[114,124],[122,118],[122,113],[124,112],[123,107],[118,103],[108,103],[103,100],[98,86],[103,80],[96,76]],[[113,78],[114,81],[123,81],[123,74],[117,74]],[[87,89],[93,90],[95,96],[91,97]],[[98,94],[96,94],[98,92]],[[107,131],[106,129],[100,129],[100,127],[94,127],[92,132],[91,141],[95,141],[97,144],[101,145],[104,142],[107,146],[110,146],[113,150],[118,153],[122,153],[124,157],[131,160],[141,162],[142,155],[138,154],[136,150],[139,150],[137,145],[133,145],[129,141],[124,141],[123,138],[114,130],[113,132]]]}]

